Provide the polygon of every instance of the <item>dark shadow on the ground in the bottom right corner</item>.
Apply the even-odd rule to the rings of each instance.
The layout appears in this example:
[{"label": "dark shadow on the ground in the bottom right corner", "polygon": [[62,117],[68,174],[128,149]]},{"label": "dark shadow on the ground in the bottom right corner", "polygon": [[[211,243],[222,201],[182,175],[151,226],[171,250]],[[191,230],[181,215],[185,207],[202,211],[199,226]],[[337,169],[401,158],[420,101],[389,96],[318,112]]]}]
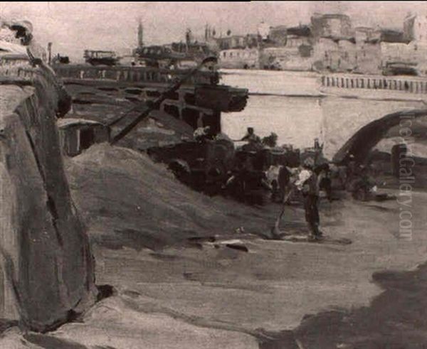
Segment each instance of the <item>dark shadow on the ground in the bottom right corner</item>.
[{"label": "dark shadow on the ground in the bottom right corner", "polygon": [[410,272],[378,272],[373,279],[385,291],[370,306],[307,316],[294,331],[302,347],[427,348],[427,264]]}]

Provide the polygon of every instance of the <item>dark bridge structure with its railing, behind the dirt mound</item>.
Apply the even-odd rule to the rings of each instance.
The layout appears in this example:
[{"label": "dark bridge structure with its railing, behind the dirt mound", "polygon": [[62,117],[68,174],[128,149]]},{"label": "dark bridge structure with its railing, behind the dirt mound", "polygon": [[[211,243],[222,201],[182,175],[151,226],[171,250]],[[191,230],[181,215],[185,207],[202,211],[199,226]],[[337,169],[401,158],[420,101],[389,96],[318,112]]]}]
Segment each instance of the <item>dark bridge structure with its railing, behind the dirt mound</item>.
[{"label": "dark bridge structure with its railing, behind the dirt mound", "polygon": [[53,69],[73,97],[72,112],[91,118],[101,114],[100,106],[107,106],[105,117],[95,117],[103,123],[110,121],[108,113],[117,118],[132,104],[156,100],[183,77],[184,83],[176,92],[168,93],[159,112],[172,115],[193,129],[209,126],[220,131],[221,112],[240,111],[248,98],[246,89],[216,85],[218,73],[210,70],[189,75],[191,70],[128,66],[53,65]]}]

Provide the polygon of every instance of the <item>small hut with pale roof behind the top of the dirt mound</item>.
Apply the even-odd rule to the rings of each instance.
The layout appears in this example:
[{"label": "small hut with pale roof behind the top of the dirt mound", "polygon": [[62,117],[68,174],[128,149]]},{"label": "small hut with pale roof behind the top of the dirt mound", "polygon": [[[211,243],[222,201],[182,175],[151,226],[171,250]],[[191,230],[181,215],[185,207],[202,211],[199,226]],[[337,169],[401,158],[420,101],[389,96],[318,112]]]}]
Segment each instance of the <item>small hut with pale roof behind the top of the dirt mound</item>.
[{"label": "small hut with pale roof behind the top of the dirt mound", "polygon": [[76,156],[93,144],[110,141],[110,128],[93,120],[59,119],[58,129],[65,156]]}]

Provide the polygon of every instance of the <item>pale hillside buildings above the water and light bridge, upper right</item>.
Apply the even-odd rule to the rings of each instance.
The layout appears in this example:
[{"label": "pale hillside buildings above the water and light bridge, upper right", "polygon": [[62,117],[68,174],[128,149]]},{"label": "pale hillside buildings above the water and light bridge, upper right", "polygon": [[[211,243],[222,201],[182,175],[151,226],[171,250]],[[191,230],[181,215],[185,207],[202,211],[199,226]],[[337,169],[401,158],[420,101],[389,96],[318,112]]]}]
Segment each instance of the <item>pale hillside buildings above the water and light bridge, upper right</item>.
[{"label": "pale hillside buildings above the water and light bridge, upper right", "polygon": [[[425,75],[427,18],[408,15],[401,30],[352,25],[345,14],[314,14],[299,26],[260,23],[257,33],[225,35],[206,25],[199,43],[218,53],[222,68]],[[204,41],[204,42],[203,42]]]}]

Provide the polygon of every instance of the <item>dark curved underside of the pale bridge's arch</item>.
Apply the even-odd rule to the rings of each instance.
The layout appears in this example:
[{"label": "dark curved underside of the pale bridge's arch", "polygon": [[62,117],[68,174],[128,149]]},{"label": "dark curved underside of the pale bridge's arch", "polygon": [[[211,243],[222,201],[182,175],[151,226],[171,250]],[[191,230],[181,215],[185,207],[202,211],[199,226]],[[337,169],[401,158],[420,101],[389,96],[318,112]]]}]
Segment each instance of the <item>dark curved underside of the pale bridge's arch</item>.
[{"label": "dark curved underside of the pale bridge's arch", "polygon": [[[404,119],[416,119],[425,117],[427,109],[404,110],[386,114],[380,119],[376,119],[369,124],[364,125],[351,136],[348,141],[334,154],[332,161],[334,163],[346,163],[349,156],[354,156],[354,161],[362,163],[367,158],[369,151],[383,139],[387,132]],[[402,127],[406,127],[402,125]]]}]

